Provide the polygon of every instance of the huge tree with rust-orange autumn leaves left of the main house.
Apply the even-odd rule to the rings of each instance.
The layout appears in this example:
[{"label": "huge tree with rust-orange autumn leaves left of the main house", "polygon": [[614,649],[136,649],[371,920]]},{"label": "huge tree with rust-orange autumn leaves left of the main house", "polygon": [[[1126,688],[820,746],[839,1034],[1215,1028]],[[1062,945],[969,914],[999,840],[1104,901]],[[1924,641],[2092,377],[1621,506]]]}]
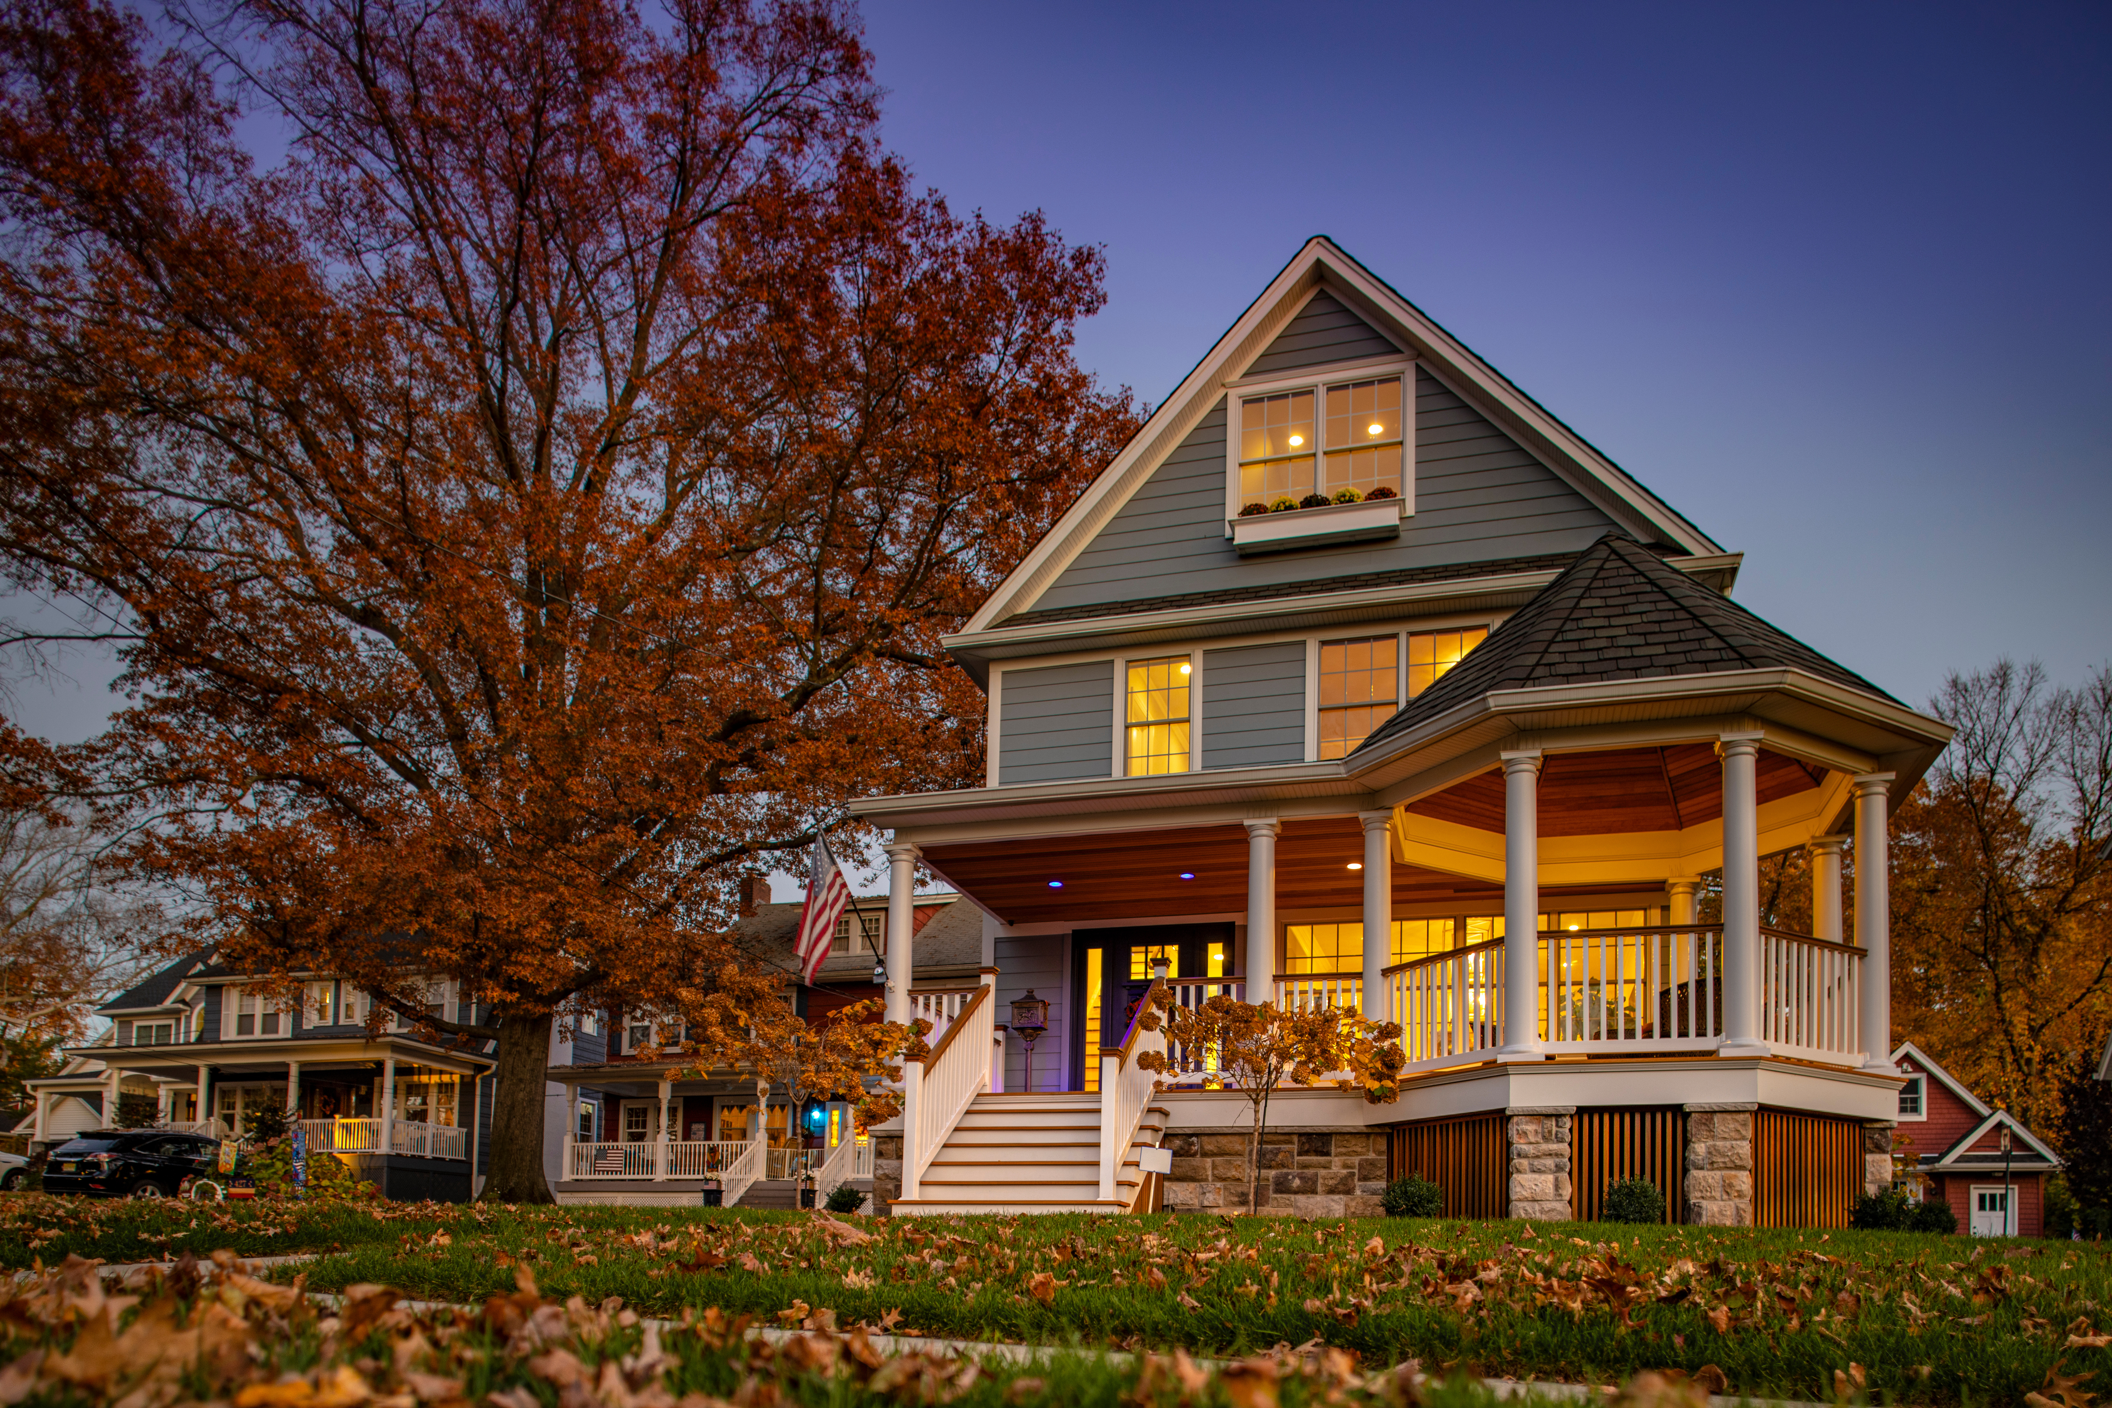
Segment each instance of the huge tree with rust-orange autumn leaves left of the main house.
[{"label": "huge tree with rust-orange autumn leaves left of the main house", "polygon": [[1100,258],[912,188],[828,0],[175,19],[0,23],[0,553],[120,623],[131,863],[496,1041],[486,1197],[547,1199],[553,1015],[980,770],[938,638],[1134,429]]}]

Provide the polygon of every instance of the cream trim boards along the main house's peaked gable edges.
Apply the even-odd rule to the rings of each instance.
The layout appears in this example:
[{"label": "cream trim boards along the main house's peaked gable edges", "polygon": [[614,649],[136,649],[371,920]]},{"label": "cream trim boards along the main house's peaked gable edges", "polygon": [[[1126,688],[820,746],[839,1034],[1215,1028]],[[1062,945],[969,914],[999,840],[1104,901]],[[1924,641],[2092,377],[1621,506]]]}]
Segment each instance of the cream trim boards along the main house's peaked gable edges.
[{"label": "cream trim boards along the main house's peaked gable edges", "polygon": [[1364,270],[1333,241],[1314,236],[1183,378],[1174,395],[1159,405],[1026,559],[991,593],[963,633],[974,635],[1029,610],[1086,545],[1107,528],[1113,515],[1130,502],[1151,473],[1219,407],[1225,384],[1246,374],[1322,287],[1381,336],[1398,342],[1417,363],[1428,363],[1430,374],[1462,401],[1489,418],[1616,524],[1685,553],[1721,551],[1717,543],[1550,416],[1538,401],[1512,386],[1415,304]]}]

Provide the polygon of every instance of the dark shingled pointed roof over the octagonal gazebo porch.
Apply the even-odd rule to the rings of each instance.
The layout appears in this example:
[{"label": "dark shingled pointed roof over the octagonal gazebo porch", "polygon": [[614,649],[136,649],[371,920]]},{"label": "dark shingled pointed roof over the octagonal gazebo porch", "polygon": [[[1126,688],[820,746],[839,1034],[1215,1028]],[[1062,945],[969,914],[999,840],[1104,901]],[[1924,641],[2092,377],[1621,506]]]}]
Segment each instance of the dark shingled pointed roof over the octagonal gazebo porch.
[{"label": "dark shingled pointed roof over the octagonal gazebo porch", "polygon": [[1802,669],[1899,703],[1730,597],[1609,532],[1436,684],[1379,724],[1358,751],[1493,690],[1601,680]]}]

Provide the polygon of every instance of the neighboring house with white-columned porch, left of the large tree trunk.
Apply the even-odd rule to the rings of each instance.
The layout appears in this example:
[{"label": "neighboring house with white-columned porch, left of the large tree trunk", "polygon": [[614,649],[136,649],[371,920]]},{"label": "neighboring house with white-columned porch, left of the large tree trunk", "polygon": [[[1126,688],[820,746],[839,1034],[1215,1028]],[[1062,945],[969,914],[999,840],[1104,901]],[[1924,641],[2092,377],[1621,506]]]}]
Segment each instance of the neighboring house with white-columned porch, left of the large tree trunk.
[{"label": "neighboring house with white-columned porch, left of the large tree trunk", "polygon": [[[298,992],[285,1001],[209,950],[177,958],[97,1007],[110,1026],[68,1047],[61,1074],[27,1081],[32,1138],[114,1125],[120,1091],[150,1098],[163,1123],[222,1138],[275,1104],[304,1123],[310,1153],[336,1153],[386,1197],[473,1197],[492,1058],[420,1041],[401,1017],[372,1034],[372,998],[348,982],[306,975]],[[433,982],[431,1001],[463,1011],[452,982]]]}]

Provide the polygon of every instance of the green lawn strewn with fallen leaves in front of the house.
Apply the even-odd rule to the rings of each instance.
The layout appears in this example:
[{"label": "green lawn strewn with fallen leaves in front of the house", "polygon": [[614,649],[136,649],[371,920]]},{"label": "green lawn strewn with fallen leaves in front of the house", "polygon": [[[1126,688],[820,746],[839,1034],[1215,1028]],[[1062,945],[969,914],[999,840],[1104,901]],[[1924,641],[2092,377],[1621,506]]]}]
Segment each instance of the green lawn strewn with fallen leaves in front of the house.
[{"label": "green lawn strewn with fallen leaves in front of the house", "polygon": [[2112,1389],[2112,1349],[2070,1343],[2112,1326],[2099,1245],[1436,1220],[853,1222],[872,1241],[767,1212],[0,1199],[0,1258],[323,1250],[336,1254],[306,1269],[315,1288],[469,1305],[528,1267],[547,1294],[670,1317],[826,1309],[843,1326],[1214,1357],[1322,1340],[1364,1364],[1601,1383],[1715,1366],[1734,1391],[1804,1400],[1831,1400],[1850,1366],[1899,1402],[2021,1402],[2055,1370]]}]

